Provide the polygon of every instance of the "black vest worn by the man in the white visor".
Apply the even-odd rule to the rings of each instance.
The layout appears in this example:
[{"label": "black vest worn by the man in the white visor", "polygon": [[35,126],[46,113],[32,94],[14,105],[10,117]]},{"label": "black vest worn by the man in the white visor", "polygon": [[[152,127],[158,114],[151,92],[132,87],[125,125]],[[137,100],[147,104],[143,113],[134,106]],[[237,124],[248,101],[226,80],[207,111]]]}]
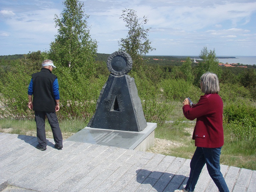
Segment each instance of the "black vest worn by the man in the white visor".
[{"label": "black vest worn by the man in the white visor", "polygon": [[57,76],[46,68],[32,74],[34,111],[55,112],[56,101],[52,85],[56,78]]}]

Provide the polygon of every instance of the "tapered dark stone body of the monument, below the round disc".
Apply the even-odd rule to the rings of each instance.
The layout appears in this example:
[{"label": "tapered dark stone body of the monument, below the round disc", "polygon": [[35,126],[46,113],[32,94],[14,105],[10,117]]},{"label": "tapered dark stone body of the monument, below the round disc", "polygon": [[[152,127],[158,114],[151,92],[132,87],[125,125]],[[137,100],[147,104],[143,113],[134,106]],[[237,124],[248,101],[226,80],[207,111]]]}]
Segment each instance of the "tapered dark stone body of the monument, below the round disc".
[{"label": "tapered dark stone body of the monument, below the round disc", "polygon": [[88,127],[142,131],[147,126],[134,79],[109,75]]}]

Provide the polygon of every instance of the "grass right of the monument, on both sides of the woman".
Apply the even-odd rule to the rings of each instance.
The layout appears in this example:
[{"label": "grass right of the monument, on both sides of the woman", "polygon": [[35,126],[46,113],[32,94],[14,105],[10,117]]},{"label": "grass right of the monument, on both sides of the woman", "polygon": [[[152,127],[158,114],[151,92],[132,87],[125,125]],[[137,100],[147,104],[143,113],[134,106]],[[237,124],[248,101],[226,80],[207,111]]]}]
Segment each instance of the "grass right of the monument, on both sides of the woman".
[{"label": "grass right of the monument, on both sides of the woman", "polygon": [[[182,142],[178,147],[166,147],[163,155],[170,155],[191,159],[196,149],[191,133],[188,133],[188,127],[194,126],[194,123],[182,122],[178,126],[169,124],[157,127],[155,137],[159,139],[171,140],[173,142]],[[224,165],[240,167],[250,170],[256,170],[256,142],[255,140],[239,141],[224,126],[224,146],[221,150],[220,163]]]}]

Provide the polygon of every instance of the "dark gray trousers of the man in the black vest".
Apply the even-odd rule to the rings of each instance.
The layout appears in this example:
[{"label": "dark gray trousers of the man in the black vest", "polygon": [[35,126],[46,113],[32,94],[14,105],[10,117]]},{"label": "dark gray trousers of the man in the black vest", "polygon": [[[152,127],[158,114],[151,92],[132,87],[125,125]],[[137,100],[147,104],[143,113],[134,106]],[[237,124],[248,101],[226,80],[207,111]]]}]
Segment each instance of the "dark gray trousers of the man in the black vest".
[{"label": "dark gray trousers of the man in the black vest", "polygon": [[45,134],[45,116],[52,128],[52,134],[55,144],[62,145],[62,134],[60,130],[59,121],[55,112],[35,111],[36,121],[36,136],[38,143],[41,147],[46,147],[46,134]]}]

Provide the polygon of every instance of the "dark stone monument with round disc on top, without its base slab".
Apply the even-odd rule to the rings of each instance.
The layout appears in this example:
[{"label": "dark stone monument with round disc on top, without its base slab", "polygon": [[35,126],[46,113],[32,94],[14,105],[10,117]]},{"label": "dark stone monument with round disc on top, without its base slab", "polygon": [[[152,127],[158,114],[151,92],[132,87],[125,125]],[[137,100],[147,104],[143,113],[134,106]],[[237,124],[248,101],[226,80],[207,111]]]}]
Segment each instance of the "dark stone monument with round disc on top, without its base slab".
[{"label": "dark stone monument with round disc on top, without its base slab", "polygon": [[111,74],[103,86],[96,111],[87,127],[140,132],[147,127],[141,100],[134,82],[127,73],[132,58],[124,51],[112,53],[107,60]]}]

